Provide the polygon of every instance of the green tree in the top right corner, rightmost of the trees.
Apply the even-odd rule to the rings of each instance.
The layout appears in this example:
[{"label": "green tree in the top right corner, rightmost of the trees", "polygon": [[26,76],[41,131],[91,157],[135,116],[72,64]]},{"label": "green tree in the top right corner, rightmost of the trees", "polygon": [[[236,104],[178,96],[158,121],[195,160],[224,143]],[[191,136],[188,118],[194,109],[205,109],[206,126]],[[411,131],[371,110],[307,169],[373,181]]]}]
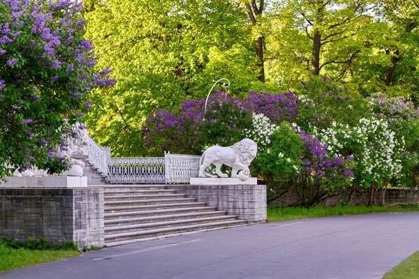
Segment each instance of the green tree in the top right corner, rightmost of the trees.
[{"label": "green tree in the top right corner, rightmost of the trees", "polygon": [[366,38],[372,51],[359,59],[353,84],[370,96],[406,96],[418,102],[419,8],[416,1],[382,0],[374,29]]}]

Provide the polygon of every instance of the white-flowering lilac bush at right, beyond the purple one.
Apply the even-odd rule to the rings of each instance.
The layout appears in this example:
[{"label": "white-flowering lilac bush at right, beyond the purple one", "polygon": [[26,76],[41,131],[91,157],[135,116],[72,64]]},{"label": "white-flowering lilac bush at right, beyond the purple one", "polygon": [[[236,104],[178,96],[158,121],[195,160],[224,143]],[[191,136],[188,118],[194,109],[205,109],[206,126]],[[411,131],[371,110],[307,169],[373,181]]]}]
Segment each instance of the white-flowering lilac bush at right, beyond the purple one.
[{"label": "white-flowering lilac bush at right, beyond the purple one", "polygon": [[402,171],[404,138],[396,138],[384,119],[360,119],[358,126],[333,122],[330,128],[314,129],[314,135],[328,144],[330,156],[353,156],[356,183],[382,185]]}]

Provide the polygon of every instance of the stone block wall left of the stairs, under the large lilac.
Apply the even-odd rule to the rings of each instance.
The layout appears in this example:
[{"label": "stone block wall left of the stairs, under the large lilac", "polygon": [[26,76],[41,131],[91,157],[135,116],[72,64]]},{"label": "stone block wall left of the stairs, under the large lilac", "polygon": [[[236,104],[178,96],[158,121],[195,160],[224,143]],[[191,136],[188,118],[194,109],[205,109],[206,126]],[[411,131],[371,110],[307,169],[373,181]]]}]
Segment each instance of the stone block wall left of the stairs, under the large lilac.
[{"label": "stone block wall left of the stairs, under the large lilac", "polygon": [[103,188],[0,188],[0,236],[103,246]]}]

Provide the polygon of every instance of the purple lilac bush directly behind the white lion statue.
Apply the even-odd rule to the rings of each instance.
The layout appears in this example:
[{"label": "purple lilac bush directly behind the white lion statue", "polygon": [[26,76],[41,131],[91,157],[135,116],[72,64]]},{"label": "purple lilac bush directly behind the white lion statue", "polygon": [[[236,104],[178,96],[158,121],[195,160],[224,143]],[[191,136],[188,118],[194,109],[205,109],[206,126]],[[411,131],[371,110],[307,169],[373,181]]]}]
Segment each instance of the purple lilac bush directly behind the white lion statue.
[{"label": "purple lilac bush directly behind the white lion statue", "polygon": [[185,100],[177,112],[158,110],[142,127],[146,144],[156,153],[200,154],[204,146],[228,146],[242,140],[251,125],[251,110],[240,98],[217,91],[205,99]]}]

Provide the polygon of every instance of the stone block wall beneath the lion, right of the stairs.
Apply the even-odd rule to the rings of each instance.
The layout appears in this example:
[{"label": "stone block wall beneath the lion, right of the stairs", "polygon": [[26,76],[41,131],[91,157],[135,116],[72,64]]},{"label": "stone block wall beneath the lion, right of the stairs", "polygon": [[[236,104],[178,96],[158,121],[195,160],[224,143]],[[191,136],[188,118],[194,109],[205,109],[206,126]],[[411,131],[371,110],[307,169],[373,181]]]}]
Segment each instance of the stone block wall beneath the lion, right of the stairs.
[{"label": "stone block wall beneath the lion, right of the stairs", "polygon": [[249,223],[266,221],[265,185],[168,185],[168,188]]}]

